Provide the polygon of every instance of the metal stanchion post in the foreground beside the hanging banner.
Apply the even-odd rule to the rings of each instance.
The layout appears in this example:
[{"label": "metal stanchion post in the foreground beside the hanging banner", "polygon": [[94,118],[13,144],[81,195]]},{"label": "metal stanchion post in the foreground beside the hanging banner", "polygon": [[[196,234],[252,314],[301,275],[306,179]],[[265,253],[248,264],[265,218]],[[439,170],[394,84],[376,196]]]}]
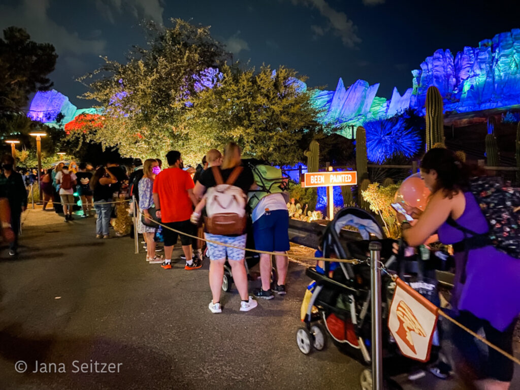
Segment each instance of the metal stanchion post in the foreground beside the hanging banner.
[{"label": "metal stanchion post in the foreground beside the hanging banner", "polygon": [[372,302],[372,388],[383,390],[383,340],[381,326],[381,243],[371,242],[370,279]]}]

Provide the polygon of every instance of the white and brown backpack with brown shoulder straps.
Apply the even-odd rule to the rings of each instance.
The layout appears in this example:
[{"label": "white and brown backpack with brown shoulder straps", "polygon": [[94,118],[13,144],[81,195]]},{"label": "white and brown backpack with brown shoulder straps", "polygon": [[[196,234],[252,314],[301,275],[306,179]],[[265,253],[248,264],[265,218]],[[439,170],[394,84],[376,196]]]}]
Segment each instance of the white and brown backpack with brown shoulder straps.
[{"label": "white and brown backpack with brown shoulder straps", "polygon": [[233,186],[243,167],[237,166],[224,183],[222,172],[212,166],[216,186],[206,193],[206,231],[214,235],[242,235],[245,232],[247,216],[245,214],[246,197],[241,188]]}]

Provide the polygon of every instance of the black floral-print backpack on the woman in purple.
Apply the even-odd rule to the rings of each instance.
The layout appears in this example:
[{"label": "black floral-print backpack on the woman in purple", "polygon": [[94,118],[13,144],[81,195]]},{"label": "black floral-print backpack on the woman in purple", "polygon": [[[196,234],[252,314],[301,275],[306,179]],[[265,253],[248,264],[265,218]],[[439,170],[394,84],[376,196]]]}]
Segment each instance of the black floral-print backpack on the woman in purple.
[{"label": "black floral-print backpack on the woman in purple", "polygon": [[472,236],[463,241],[463,250],[493,245],[511,257],[520,258],[520,189],[504,185],[499,177],[478,177],[471,181],[470,191],[487,219],[489,230],[478,234],[449,218],[449,225]]}]

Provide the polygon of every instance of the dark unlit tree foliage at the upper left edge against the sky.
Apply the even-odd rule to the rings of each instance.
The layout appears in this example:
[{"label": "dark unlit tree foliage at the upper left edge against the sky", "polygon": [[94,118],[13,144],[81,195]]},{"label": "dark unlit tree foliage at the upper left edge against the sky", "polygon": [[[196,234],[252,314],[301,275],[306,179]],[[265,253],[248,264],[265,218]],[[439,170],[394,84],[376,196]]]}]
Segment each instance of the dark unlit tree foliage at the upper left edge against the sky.
[{"label": "dark unlit tree foliage at the upper left edge against the sky", "polygon": [[0,114],[19,112],[30,94],[53,86],[47,75],[58,58],[54,46],[30,38],[19,27],[5,29],[0,38]]}]

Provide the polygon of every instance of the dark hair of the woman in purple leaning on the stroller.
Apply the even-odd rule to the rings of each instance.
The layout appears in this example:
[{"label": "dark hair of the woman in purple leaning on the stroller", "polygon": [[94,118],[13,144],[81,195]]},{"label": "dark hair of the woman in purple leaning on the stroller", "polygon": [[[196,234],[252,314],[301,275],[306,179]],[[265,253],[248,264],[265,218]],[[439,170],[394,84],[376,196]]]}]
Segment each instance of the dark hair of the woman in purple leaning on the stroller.
[{"label": "dark hair of the woman in purple leaning on the stroller", "polygon": [[469,165],[460,161],[456,155],[445,148],[434,148],[426,152],[421,160],[421,170],[430,173],[437,172],[437,188],[443,191],[444,196],[453,198],[460,191],[467,191],[470,186],[472,170]]}]

